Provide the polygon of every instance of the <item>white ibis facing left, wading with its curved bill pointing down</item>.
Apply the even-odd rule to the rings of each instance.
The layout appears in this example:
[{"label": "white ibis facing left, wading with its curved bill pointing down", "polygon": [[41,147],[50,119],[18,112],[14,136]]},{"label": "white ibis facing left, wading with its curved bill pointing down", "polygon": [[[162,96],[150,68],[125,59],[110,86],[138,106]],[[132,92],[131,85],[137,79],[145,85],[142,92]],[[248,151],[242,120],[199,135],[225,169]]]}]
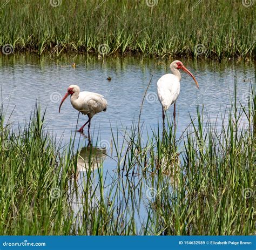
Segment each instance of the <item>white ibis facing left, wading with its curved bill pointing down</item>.
[{"label": "white ibis facing left, wading with its curved bill pointing down", "polygon": [[64,100],[69,95],[71,95],[70,102],[73,108],[89,117],[89,120],[87,120],[86,123],[82,127],[80,127],[78,132],[83,133],[84,126],[87,123],[89,123],[88,134],[90,138],[91,119],[95,114],[102,111],[106,111],[107,101],[103,98],[101,94],[88,92],[88,91],[80,92],[80,88],[77,85],[70,85],[68,87],[68,91],[66,92],[65,96],[62,99],[62,102],[59,105],[59,112],[60,112],[60,107],[62,106]]}]

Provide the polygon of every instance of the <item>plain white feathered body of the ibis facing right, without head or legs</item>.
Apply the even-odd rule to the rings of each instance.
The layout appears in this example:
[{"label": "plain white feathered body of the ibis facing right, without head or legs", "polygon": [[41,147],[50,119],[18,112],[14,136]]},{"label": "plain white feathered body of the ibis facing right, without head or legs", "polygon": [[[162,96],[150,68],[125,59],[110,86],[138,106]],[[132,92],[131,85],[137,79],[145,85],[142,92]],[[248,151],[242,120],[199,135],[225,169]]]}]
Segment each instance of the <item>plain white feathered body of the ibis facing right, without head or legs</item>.
[{"label": "plain white feathered body of the ibis facing right, without head or legs", "polygon": [[180,83],[178,77],[172,74],[166,74],[159,78],[157,82],[157,95],[159,102],[164,110],[176,102],[180,92]]}]

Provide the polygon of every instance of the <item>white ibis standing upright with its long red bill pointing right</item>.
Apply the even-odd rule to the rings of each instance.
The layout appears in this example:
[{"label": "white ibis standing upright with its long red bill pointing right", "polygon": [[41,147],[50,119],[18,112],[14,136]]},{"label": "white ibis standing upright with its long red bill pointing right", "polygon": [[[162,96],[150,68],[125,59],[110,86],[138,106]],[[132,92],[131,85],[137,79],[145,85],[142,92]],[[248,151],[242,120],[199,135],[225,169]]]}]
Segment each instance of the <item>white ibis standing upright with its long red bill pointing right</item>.
[{"label": "white ibis standing upright with its long red bill pointing right", "polygon": [[175,60],[171,63],[170,69],[172,74],[166,74],[159,78],[157,81],[157,95],[158,100],[162,105],[163,112],[163,126],[165,119],[165,111],[169,109],[169,107],[173,106],[173,118],[174,118],[174,126],[176,126],[176,100],[179,97],[180,92],[180,80],[181,75],[179,70],[185,71],[188,75],[190,75],[199,89],[199,85],[197,83],[196,78],[192,75],[192,73],[186,69],[186,67],[179,60]]}]

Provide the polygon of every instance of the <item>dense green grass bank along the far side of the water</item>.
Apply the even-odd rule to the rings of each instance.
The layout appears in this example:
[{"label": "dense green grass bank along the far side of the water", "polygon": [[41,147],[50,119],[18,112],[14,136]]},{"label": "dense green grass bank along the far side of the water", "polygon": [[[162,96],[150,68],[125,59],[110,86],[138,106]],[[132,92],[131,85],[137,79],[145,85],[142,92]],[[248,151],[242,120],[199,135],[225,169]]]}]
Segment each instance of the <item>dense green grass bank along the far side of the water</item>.
[{"label": "dense green grass bank along the far side of the water", "polygon": [[254,6],[248,2],[1,0],[0,46],[5,53],[39,55],[77,51],[249,58],[255,33]]}]

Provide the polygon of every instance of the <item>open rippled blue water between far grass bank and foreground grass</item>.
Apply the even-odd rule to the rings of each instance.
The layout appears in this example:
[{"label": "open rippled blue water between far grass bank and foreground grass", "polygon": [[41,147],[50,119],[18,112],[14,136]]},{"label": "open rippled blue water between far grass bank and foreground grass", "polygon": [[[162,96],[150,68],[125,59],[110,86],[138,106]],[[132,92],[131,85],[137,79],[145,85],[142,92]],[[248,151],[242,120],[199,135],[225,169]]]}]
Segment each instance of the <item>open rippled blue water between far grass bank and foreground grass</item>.
[{"label": "open rippled blue water between far grass bank and foreground grass", "polygon": [[[5,121],[24,124],[29,120],[36,101],[41,110],[46,109],[45,125],[57,139],[62,138],[68,144],[75,137],[75,147],[83,148],[81,156],[86,158],[84,148],[88,143],[85,134],[76,133],[76,126],[82,126],[87,117],[73,109],[70,100],[66,99],[62,110],[58,113],[60,100],[71,84],[77,84],[81,91],[92,91],[103,94],[107,99],[106,112],[97,114],[92,119],[92,145],[103,151],[96,153],[103,161],[103,172],[114,173],[116,157],[113,151],[113,135],[122,138],[133,123],[138,122],[140,106],[147,85],[147,90],[140,123],[144,126],[142,138],[157,129],[161,124],[161,105],[157,99],[156,83],[160,76],[169,73],[172,60],[157,60],[134,57],[86,57],[82,55],[66,55],[58,59],[50,56],[41,58],[35,55],[9,55],[0,57],[0,79],[2,88],[2,104]],[[72,63],[76,67],[72,67]],[[205,107],[206,119],[213,123],[221,123],[220,113],[225,111],[233,97],[234,78],[237,77],[237,94],[241,103],[246,104],[248,90],[254,84],[254,65],[252,62],[226,60],[223,63],[182,60],[184,65],[196,77],[199,90],[192,78],[181,73],[181,91],[177,101],[177,136],[179,137],[191,118],[197,116],[199,108]],[[111,81],[107,80],[111,77]],[[172,119],[172,110],[167,116]],[[121,140],[122,141],[122,140]],[[96,145],[97,144],[97,145]],[[104,155],[104,156],[103,156]],[[111,155],[109,157],[108,155]],[[97,158],[96,157],[96,158]],[[96,168],[99,165],[96,160]],[[79,170],[86,165],[79,161]]]}]

